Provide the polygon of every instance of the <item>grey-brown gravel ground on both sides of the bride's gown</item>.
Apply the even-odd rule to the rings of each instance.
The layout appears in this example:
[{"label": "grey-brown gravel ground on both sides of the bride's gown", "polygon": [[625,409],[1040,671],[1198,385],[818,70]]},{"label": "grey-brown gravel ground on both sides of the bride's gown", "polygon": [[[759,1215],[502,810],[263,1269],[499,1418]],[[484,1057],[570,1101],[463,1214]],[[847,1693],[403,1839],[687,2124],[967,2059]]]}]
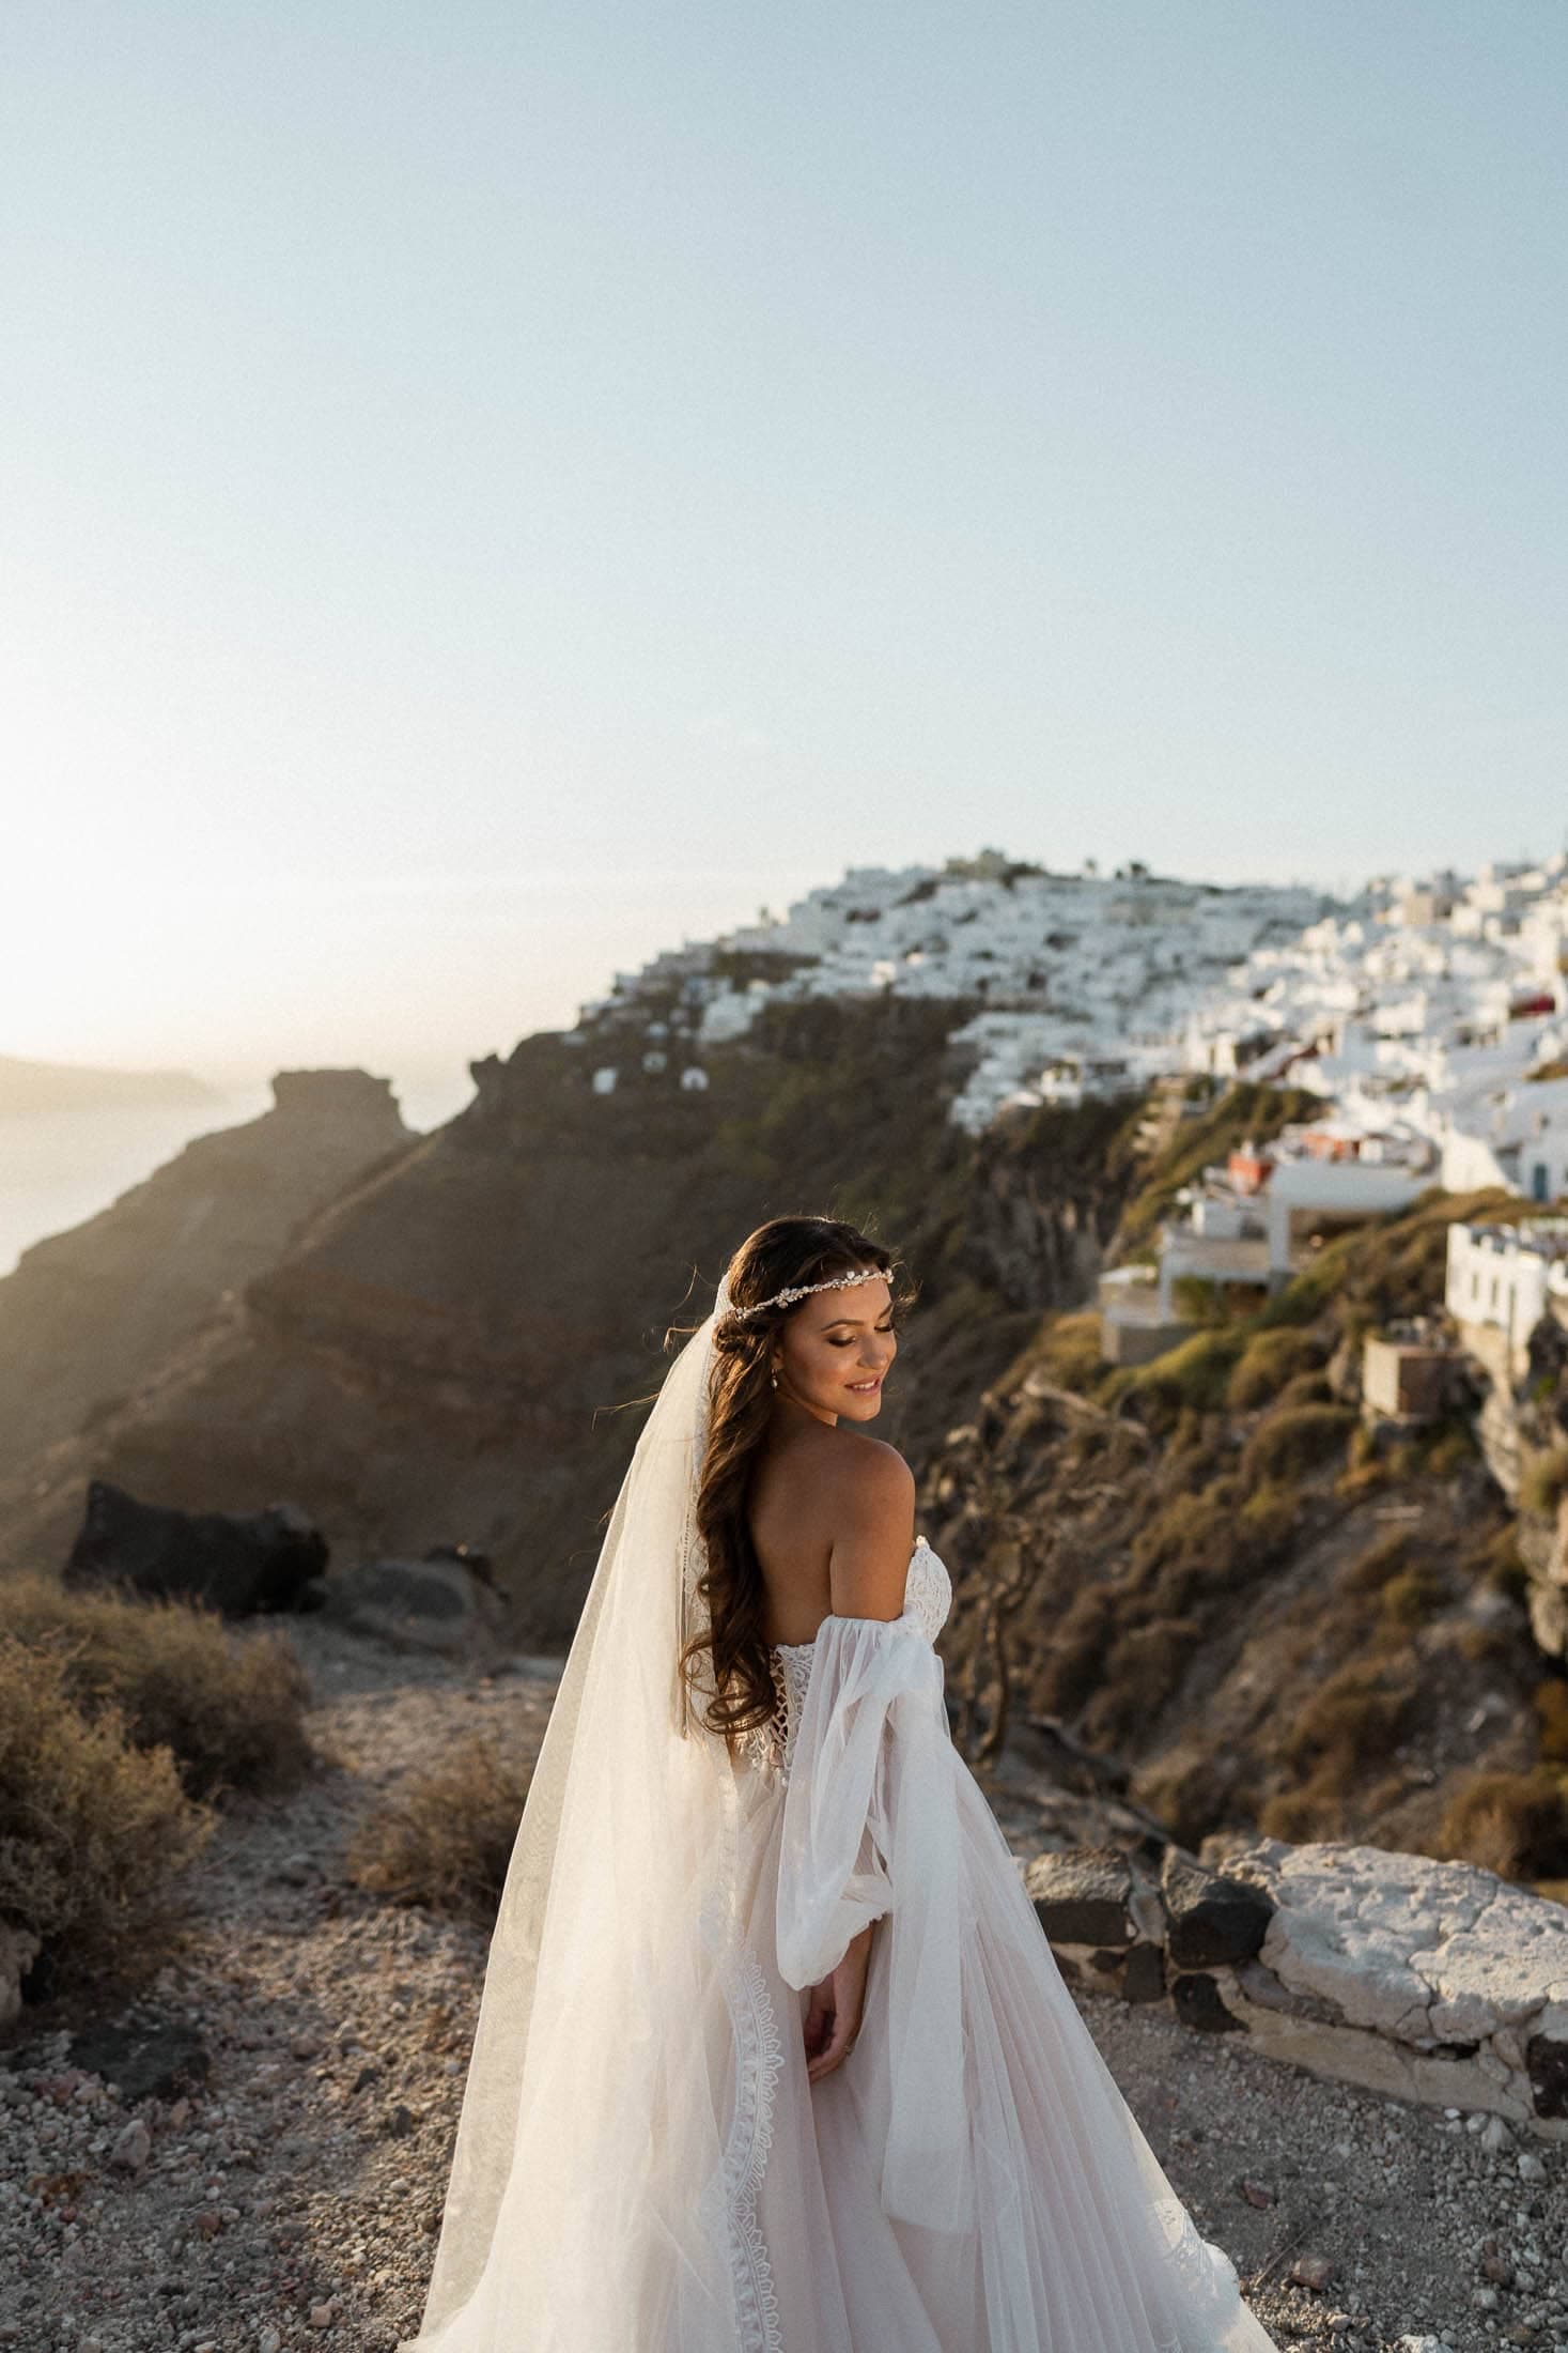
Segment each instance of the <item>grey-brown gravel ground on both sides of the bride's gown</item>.
[{"label": "grey-brown gravel ground on both sides of the bride's gown", "polygon": [[[0,2042],[0,2346],[390,2353],[418,2322],[487,1939],[362,1897],[341,1857],[374,1791],[465,1732],[536,1751],[552,1685],[292,1633],[329,1762],[228,1809],[190,1951],[127,2014],[150,2085],[71,2066],[85,2017]],[[1568,2353],[1568,2148],[1079,2007],[1281,2346]]]}]

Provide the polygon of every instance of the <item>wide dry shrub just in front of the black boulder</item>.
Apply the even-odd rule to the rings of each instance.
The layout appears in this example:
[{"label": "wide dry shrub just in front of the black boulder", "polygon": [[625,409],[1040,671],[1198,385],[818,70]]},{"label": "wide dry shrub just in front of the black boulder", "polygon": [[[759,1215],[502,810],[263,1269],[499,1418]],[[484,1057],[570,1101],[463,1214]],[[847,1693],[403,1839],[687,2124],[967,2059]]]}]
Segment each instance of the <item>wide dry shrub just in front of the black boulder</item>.
[{"label": "wide dry shrub just in front of the black boulder", "polygon": [[12,1635],[61,1664],[82,1711],[115,1706],[136,1748],[172,1748],[193,1798],[292,1788],[310,1765],[310,1680],[280,1628],[240,1635],[202,1602],[38,1574],[9,1577],[0,1607]]}]

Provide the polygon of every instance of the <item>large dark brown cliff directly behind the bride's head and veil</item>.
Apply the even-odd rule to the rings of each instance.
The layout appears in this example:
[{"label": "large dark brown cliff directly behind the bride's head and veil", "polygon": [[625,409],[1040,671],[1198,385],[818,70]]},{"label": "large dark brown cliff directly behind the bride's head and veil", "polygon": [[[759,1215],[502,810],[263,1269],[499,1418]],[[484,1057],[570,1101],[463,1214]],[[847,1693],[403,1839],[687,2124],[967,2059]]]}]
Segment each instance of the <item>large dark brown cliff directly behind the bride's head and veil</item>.
[{"label": "large dark brown cliff directly behind the bride's head and veil", "polygon": [[[33,1461],[5,1558],[68,1548],[87,1475],[186,1508],[287,1497],[336,1558],[487,1551],[515,1635],[576,1624],[670,1322],[729,1249],[811,1209],[865,1224],[922,1285],[879,1433],[922,1464],[1041,1308],[1074,1304],[1117,1221],[1126,1106],[973,1141],[945,1118],[952,1007],[771,1007],[710,1085],[595,1094],[581,1047],[524,1040],[475,1101],[350,1186],[87,1435]],[[214,1139],[221,1141],[221,1139]]]}]

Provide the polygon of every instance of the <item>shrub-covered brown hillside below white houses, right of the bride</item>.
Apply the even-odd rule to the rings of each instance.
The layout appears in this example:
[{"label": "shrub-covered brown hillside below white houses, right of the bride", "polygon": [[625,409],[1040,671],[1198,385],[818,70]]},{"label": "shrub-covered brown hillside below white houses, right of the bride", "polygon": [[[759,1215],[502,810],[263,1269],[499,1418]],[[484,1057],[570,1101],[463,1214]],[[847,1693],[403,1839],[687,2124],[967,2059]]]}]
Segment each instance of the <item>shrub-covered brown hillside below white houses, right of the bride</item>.
[{"label": "shrub-covered brown hillside below white houses, right of the bride", "polygon": [[945,1652],[976,1753],[1041,1722],[1133,1767],[1197,1847],[1246,1824],[1568,1878],[1568,1685],[1465,1414],[1359,1424],[1359,1334],[1427,1304],[1429,1198],[1248,1325],[1138,1372],[1048,1318],[931,1461],[961,1569]]}]

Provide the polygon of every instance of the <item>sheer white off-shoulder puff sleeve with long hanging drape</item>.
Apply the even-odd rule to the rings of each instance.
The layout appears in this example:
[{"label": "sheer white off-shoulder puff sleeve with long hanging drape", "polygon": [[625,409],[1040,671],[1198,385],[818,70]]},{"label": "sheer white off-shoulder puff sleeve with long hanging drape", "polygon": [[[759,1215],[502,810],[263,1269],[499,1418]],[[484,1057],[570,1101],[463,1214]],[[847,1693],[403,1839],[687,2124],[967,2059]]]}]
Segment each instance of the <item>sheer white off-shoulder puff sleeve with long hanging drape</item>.
[{"label": "sheer white off-shoulder puff sleeve with long hanging drape", "polygon": [[882,2205],[943,2231],[973,2221],[957,1772],[943,1661],[919,1619],[825,1617],[785,1791],[778,1974],[820,1984],[886,1915]]}]

